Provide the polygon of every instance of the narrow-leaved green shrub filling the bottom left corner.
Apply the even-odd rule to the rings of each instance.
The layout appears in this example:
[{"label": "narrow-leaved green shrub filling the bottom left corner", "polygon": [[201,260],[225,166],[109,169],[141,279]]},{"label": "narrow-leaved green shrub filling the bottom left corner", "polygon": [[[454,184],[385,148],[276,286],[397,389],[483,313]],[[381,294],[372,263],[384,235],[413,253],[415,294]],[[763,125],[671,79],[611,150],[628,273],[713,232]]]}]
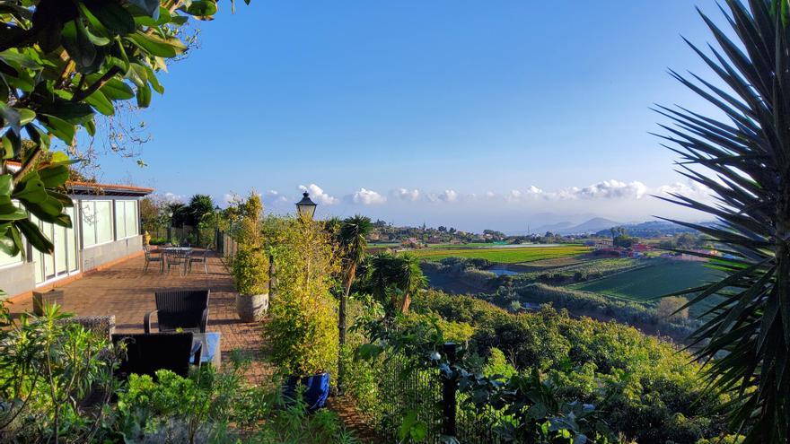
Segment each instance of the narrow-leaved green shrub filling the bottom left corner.
[{"label": "narrow-leaved green shrub filling the bottom left corner", "polygon": [[[116,382],[107,338],[68,322],[56,306],[12,319],[0,333],[0,440],[82,443],[109,421]],[[86,411],[93,399],[95,408]]]}]

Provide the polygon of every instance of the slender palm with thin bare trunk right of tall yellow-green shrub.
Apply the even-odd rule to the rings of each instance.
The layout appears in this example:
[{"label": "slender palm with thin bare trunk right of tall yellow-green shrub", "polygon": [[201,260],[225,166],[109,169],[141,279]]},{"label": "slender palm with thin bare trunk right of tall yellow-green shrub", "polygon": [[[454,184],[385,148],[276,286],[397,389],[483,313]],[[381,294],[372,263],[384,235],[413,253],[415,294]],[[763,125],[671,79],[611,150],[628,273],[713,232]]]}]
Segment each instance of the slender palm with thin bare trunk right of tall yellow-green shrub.
[{"label": "slender palm with thin bare trunk right of tall yellow-green shrub", "polygon": [[[338,243],[340,245],[341,273],[343,275],[344,292],[340,296],[340,309],[338,311],[338,344],[339,352],[346,345],[346,305],[348,295],[351,293],[351,284],[356,277],[356,269],[365,257],[367,236],[373,231],[373,224],[369,217],[355,215],[344,220],[340,225]],[[343,393],[343,360],[338,360],[338,392]]]}]

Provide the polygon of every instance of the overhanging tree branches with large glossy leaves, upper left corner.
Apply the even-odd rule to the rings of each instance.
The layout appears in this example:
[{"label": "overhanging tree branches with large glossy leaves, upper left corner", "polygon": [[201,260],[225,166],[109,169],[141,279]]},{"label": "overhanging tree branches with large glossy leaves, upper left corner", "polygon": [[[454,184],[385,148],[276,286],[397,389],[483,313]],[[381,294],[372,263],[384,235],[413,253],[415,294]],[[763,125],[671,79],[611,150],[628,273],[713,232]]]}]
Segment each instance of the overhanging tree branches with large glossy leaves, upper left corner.
[{"label": "overhanging tree branches with large glossy leaves, upper left corner", "polygon": [[[249,3],[249,0],[245,0]],[[22,239],[46,253],[52,242],[31,221],[71,227],[63,213],[70,161],[55,152],[40,162],[51,138],[68,147],[96,134],[96,115],[112,116],[136,99],[147,107],[162,93],[157,74],[186,46],[189,19],[211,20],[216,0],[10,0],[0,8],[0,250],[23,254]],[[22,152],[22,140],[33,147]],[[21,161],[19,170],[8,161]],[[22,208],[13,205],[18,202]]]}]

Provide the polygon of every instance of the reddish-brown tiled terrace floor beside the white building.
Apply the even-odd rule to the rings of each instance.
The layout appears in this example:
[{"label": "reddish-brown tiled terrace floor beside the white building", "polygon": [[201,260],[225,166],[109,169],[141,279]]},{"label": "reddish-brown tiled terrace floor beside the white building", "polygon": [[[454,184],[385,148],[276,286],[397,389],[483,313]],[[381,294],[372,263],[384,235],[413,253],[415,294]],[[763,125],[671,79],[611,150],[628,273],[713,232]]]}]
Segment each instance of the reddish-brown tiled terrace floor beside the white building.
[{"label": "reddish-brown tiled terrace floor beside the white building", "polygon": [[[200,264],[186,276],[175,270],[160,274],[157,264],[144,273],[144,264],[143,257],[136,257],[66,283],[58,288],[65,292],[64,309],[77,315],[115,315],[118,333],[142,332],[145,313],[155,309],[155,291],[210,289],[207,330],[222,333],[223,361],[228,361],[229,353],[238,349],[253,361],[248,373],[251,381],[265,384],[270,380],[272,369],[261,361],[265,345],[261,324],[239,320],[233,281],[219,257],[208,257],[208,274],[204,274]],[[32,300],[15,300],[10,309],[12,313],[30,311]]]}]

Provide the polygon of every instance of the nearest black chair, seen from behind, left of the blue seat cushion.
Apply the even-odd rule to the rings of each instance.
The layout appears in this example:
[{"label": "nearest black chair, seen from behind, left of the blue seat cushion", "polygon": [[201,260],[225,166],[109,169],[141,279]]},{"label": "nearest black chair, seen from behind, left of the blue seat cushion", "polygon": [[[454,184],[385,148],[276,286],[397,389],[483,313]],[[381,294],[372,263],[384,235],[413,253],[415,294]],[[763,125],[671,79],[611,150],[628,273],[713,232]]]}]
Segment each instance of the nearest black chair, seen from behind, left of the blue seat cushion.
[{"label": "nearest black chair, seen from behind, left of the blue seat cushion", "polygon": [[127,379],[130,374],[155,377],[156,370],[171,370],[184,378],[189,376],[189,357],[200,363],[200,342],[194,344],[192,333],[135,333],[114,334],[112,344],[126,344],[126,355],[121,359],[116,374]]}]

